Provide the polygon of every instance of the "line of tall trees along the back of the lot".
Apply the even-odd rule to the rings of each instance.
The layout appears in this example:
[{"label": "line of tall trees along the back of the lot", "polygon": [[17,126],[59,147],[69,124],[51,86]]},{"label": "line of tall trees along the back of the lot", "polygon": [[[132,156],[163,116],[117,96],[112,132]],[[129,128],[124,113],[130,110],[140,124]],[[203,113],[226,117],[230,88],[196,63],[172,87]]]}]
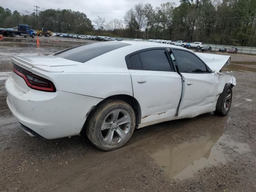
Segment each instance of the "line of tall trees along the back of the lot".
[{"label": "line of tall trees along the back of the lot", "polygon": [[153,7],[136,4],[124,19],[92,21],[82,12],[47,9],[36,14],[0,7],[0,27],[24,23],[54,32],[127,38],[200,41],[211,44],[256,46],[256,0],[180,0]]}]

